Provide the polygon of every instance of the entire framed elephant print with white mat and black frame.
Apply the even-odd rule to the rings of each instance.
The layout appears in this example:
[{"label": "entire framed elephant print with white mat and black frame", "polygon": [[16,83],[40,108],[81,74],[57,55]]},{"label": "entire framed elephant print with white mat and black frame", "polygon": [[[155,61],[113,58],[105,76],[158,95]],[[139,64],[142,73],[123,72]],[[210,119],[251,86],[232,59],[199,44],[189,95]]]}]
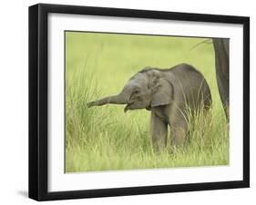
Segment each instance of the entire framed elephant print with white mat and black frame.
[{"label": "entire framed elephant print with white mat and black frame", "polygon": [[250,19],[29,7],[29,197],[250,186]]}]

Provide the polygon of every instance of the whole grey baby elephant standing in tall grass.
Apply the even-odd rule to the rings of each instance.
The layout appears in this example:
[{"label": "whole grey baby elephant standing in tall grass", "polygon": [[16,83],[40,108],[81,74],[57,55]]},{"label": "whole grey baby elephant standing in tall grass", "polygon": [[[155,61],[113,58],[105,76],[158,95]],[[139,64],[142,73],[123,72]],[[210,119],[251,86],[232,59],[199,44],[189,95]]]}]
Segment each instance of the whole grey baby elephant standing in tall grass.
[{"label": "whole grey baby elephant standing in tall grass", "polygon": [[121,93],[88,102],[88,107],[108,103],[127,104],[128,110],[151,111],[150,132],[155,148],[159,151],[167,145],[168,125],[171,142],[182,145],[188,132],[186,104],[191,110],[211,103],[210,88],[204,77],[189,64],[179,64],[168,70],[146,67],[136,73]]}]

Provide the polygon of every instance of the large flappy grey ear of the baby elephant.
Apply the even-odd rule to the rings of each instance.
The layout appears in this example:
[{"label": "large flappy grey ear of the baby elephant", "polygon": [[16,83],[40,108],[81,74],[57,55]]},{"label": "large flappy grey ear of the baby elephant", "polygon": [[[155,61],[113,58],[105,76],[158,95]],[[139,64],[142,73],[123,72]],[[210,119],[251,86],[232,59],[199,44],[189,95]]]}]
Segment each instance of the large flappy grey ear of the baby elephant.
[{"label": "large flappy grey ear of the baby elephant", "polygon": [[158,77],[153,84],[151,107],[169,104],[173,101],[173,98],[173,84],[166,79]]}]

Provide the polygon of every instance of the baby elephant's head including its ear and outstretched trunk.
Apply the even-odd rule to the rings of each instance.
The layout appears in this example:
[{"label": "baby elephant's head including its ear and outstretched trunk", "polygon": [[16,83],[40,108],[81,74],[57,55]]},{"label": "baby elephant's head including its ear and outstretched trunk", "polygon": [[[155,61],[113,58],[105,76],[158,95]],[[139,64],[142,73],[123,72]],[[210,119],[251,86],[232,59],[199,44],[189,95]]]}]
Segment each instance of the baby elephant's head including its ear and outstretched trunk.
[{"label": "baby elephant's head including its ear and outstretched trunk", "polygon": [[87,106],[100,106],[108,103],[127,104],[125,112],[135,109],[147,109],[169,104],[173,97],[173,86],[157,69],[145,68],[136,73],[126,83],[118,95],[108,96]]}]

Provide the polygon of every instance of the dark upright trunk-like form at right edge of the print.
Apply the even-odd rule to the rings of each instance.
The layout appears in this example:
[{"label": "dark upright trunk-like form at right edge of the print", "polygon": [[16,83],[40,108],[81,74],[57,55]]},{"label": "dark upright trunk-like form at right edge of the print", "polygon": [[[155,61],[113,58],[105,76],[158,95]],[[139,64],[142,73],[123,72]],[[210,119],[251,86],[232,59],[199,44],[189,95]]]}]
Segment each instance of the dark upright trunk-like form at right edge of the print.
[{"label": "dark upright trunk-like form at right edge of the print", "polygon": [[230,106],[230,40],[213,38],[217,83],[226,117],[229,121]]}]

